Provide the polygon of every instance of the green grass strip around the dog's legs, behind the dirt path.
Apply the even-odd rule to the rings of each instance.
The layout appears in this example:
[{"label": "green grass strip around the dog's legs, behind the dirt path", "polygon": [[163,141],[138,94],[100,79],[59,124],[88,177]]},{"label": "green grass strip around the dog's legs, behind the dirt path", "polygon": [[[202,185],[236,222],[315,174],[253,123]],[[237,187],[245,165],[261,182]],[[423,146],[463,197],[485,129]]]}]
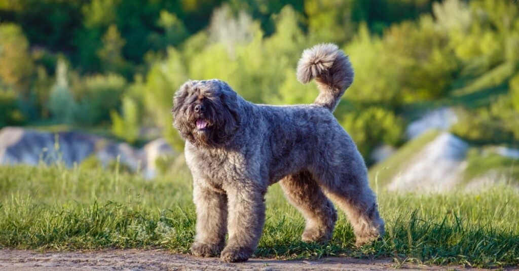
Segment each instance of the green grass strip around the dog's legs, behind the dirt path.
[{"label": "green grass strip around the dog's legs, behind the dirt path", "polygon": [[[138,175],[62,166],[0,167],[0,247],[19,249],[165,248],[188,252],[195,213],[189,173],[146,181]],[[519,193],[378,195],[387,234],[362,248],[340,213],[333,240],[303,243],[302,216],[278,185],[267,193],[261,257],[348,255],[398,262],[519,264]]]}]

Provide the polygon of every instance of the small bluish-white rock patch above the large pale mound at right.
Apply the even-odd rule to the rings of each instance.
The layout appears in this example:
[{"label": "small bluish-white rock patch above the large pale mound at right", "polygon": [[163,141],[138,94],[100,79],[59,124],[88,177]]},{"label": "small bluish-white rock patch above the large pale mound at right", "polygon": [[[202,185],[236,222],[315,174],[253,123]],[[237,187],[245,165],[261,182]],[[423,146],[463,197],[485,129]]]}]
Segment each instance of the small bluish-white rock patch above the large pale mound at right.
[{"label": "small bluish-white rock patch above the large pale mound at right", "polygon": [[413,121],[407,126],[407,138],[413,139],[418,135],[432,129],[448,130],[450,126],[457,123],[458,117],[454,110],[448,107],[442,107],[428,112],[420,119]]}]

